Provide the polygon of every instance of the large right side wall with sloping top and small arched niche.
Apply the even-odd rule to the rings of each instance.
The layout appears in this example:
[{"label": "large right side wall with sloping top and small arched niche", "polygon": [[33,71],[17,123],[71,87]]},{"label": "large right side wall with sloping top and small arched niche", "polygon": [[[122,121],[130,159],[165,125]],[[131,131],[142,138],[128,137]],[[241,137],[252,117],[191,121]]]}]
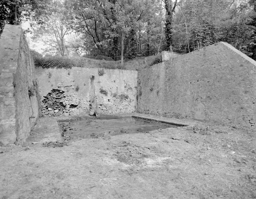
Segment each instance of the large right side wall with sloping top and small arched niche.
[{"label": "large right side wall with sloping top and small arched niche", "polygon": [[138,112],[254,128],[256,61],[219,42],[138,74]]}]

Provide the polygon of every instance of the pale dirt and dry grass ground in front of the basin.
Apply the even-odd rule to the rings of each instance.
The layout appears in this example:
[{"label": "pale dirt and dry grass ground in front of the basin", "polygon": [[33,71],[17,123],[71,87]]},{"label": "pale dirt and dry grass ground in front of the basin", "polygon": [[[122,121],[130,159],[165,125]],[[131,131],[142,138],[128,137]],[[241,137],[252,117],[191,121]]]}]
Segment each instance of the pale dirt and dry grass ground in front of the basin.
[{"label": "pale dirt and dry grass ground in front of the basin", "polygon": [[26,146],[1,145],[0,199],[256,198],[253,130],[198,123],[61,147],[43,139],[51,121]]}]

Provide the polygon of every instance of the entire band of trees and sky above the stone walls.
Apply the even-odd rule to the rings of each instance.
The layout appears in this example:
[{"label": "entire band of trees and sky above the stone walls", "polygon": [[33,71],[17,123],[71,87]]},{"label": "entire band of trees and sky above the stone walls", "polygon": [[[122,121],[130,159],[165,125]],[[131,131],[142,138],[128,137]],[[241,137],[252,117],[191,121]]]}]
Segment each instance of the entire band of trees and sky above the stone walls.
[{"label": "entire band of trees and sky above the stone walls", "polygon": [[34,35],[61,55],[68,43],[88,56],[123,60],[171,49],[187,53],[224,41],[256,59],[255,0],[0,2],[0,25],[28,17],[35,21]]}]

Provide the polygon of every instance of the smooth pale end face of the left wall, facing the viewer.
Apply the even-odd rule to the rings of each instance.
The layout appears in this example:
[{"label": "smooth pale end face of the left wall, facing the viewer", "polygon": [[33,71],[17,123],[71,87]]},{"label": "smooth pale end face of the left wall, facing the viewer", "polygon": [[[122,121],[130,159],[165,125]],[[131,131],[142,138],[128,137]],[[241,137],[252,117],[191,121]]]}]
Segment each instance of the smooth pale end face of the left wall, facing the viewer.
[{"label": "smooth pale end face of the left wall, facing the viewer", "polygon": [[20,32],[19,26],[6,25],[0,38],[0,141],[3,143],[16,140],[12,82],[17,68]]}]

